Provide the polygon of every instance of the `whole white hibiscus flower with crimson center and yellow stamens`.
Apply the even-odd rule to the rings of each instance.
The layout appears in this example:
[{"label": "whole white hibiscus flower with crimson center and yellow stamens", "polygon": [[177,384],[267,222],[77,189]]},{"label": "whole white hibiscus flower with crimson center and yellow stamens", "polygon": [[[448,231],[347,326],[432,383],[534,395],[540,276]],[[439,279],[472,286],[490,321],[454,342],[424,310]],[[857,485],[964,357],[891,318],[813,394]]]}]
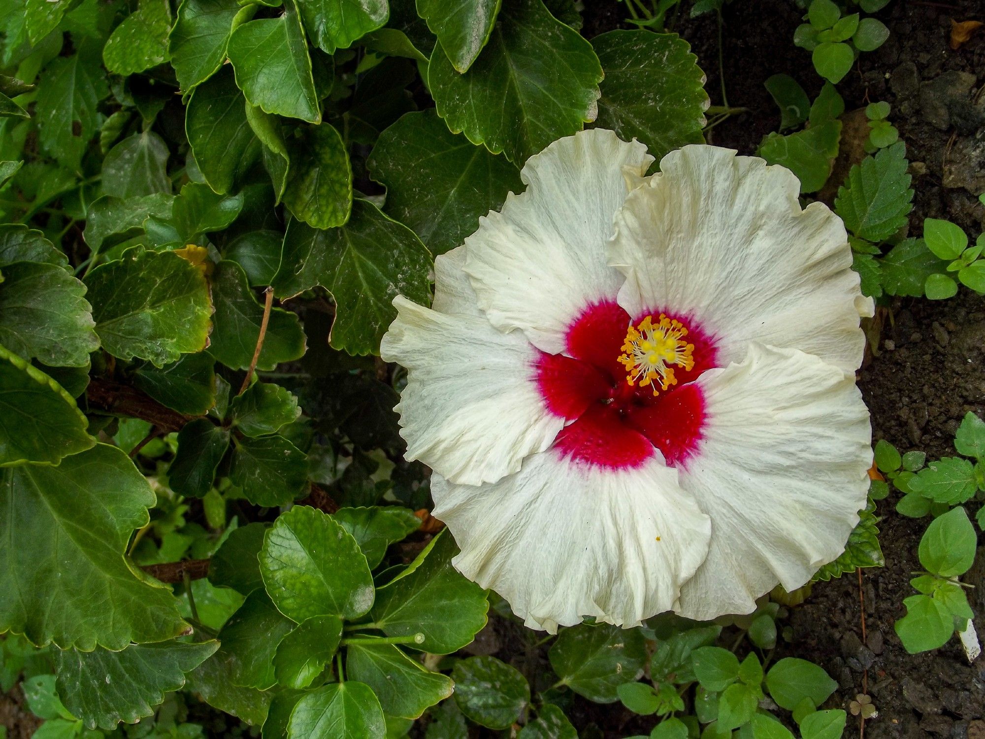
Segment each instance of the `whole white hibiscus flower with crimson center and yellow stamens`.
[{"label": "whole white hibiscus flower with crimson center and yellow stamens", "polygon": [[872,302],[841,222],[760,159],[652,161],[556,141],[383,338],[455,567],[533,628],[749,613],[865,504]]}]

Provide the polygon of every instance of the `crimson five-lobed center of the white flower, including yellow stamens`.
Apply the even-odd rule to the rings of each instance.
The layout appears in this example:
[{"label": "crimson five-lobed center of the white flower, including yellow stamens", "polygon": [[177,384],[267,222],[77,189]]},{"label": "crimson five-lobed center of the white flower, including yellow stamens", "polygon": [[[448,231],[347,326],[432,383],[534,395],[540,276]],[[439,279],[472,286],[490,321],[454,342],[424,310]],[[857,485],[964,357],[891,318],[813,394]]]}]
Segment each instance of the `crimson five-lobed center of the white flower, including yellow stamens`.
[{"label": "crimson five-lobed center of the white flower, including yellow stamens", "polygon": [[693,380],[717,367],[715,341],[697,322],[659,310],[632,320],[616,302],[598,302],[571,322],[566,345],[536,365],[546,407],[568,422],[559,454],[612,469],[657,449],[678,466],[697,454],[705,413]]}]

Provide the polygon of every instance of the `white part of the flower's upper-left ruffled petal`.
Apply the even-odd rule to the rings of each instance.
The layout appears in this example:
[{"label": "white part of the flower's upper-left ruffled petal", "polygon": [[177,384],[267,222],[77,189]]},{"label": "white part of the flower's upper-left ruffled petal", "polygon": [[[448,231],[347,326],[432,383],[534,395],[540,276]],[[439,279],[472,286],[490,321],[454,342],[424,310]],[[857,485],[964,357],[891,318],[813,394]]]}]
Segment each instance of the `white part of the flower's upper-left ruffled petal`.
[{"label": "white part of the flower's upper-left ruffled petal", "polygon": [[627,192],[624,167],[642,175],[652,162],[645,146],[603,129],[558,139],[527,161],[526,191],[507,196],[465,239],[465,271],[494,326],[564,351],[568,324],[623,283],[606,242]]}]

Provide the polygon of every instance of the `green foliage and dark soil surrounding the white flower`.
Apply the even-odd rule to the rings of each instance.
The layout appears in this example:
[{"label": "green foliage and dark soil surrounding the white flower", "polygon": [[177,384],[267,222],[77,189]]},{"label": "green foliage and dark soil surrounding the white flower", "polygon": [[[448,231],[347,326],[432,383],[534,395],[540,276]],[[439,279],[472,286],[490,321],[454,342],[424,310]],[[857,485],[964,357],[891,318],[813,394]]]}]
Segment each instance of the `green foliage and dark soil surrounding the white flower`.
[{"label": "green foliage and dark soil surrounding the white flower", "polygon": [[[0,731],[981,737],[976,21],[0,4]],[[869,498],[841,556],[743,616],[527,629],[452,566],[405,458],[393,299],[427,304],[435,257],[593,128],[789,168],[875,302]]]}]

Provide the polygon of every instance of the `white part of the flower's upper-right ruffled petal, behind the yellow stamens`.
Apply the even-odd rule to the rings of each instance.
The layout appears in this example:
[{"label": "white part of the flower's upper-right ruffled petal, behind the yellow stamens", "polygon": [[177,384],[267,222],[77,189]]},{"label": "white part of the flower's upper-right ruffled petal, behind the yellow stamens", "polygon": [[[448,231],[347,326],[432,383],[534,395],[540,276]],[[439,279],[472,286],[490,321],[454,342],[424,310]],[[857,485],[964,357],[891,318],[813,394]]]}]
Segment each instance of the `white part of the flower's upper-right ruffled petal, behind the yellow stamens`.
[{"label": "white part of the flower's upper-right ruffled petal, behind the yellow stamens", "polygon": [[862,362],[872,315],[844,225],[822,203],[801,209],[797,177],[729,149],[686,146],[617,214],[611,264],[630,313],[666,309],[718,338],[719,361],[749,342],[800,349],[842,370]]}]

